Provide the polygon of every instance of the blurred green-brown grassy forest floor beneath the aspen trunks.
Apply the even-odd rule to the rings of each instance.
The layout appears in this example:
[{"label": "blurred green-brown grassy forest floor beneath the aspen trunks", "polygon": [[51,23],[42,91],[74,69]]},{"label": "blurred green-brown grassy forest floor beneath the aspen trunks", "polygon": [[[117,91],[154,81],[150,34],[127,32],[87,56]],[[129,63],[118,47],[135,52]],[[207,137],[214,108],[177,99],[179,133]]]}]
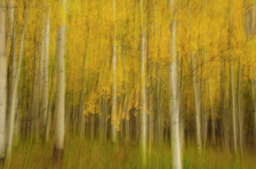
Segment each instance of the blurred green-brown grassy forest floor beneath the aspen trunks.
[{"label": "blurred green-brown grassy forest floor beneath the aspen trunks", "polygon": [[[169,144],[154,146],[148,151],[146,166],[142,167],[137,146],[122,143],[111,144],[79,137],[66,139],[61,166],[53,166],[53,141],[32,143],[22,141],[12,149],[10,169],[170,169],[172,164]],[[219,148],[207,148],[198,153],[195,147],[183,149],[184,169],[256,169],[256,155],[240,156]],[[5,167],[6,168],[6,167]]]}]

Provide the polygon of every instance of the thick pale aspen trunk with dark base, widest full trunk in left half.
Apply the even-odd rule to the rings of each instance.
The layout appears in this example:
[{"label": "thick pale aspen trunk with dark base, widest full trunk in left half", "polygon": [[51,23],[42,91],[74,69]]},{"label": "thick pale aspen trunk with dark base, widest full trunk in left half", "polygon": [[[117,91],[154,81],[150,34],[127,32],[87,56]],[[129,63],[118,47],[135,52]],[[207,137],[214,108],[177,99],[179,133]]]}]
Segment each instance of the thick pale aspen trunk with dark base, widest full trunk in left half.
[{"label": "thick pale aspen trunk with dark base, widest full trunk in left half", "polygon": [[64,148],[64,121],[65,121],[65,32],[66,32],[66,3],[67,0],[61,1],[60,25],[56,42],[56,93],[55,93],[55,148],[63,150]]}]

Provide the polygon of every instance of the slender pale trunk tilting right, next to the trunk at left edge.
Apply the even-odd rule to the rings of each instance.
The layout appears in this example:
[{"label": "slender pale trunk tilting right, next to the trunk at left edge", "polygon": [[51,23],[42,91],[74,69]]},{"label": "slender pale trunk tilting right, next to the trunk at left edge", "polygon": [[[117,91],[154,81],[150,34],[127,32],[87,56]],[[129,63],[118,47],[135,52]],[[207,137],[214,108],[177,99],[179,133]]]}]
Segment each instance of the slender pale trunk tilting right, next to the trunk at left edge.
[{"label": "slender pale trunk tilting right, next to the trunk at left edge", "polygon": [[[6,156],[9,161],[10,159],[10,154],[11,154],[11,149],[12,149],[12,136],[13,136],[13,127],[14,127],[14,121],[15,121],[15,101],[16,101],[16,95],[17,95],[17,85],[19,82],[20,78],[20,66],[21,66],[21,60],[23,58],[23,45],[24,45],[24,34],[25,34],[25,29],[26,29],[26,22],[27,22],[27,13],[28,13],[28,7],[25,9],[25,14],[24,14],[24,23],[23,23],[23,28],[21,31],[21,36],[20,36],[20,51],[19,51],[19,56],[17,60],[17,68],[15,71],[15,76],[12,78],[11,82],[11,94],[10,94],[10,112],[9,112],[9,127],[8,127],[8,140],[7,140],[7,152]],[[13,63],[15,64],[15,62]]]}]

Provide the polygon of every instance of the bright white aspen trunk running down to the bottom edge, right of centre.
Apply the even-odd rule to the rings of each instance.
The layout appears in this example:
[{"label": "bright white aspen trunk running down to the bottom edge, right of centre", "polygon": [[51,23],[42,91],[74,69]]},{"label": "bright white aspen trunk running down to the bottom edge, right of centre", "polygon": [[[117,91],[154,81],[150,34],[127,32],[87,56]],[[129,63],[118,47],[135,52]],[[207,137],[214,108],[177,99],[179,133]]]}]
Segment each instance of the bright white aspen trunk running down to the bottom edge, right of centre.
[{"label": "bright white aspen trunk running down to the bottom edge, right of centre", "polygon": [[175,16],[175,0],[170,0],[171,10],[172,11],[172,23],[170,25],[171,34],[170,37],[171,46],[171,61],[169,61],[169,113],[171,117],[171,145],[172,145],[172,168],[173,169],[181,169],[181,161],[180,161],[180,133],[179,133],[179,98],[177,94],[177,73],[176,73],[176,59],[177,59],[177,51],[176,51],[176,16]]}]

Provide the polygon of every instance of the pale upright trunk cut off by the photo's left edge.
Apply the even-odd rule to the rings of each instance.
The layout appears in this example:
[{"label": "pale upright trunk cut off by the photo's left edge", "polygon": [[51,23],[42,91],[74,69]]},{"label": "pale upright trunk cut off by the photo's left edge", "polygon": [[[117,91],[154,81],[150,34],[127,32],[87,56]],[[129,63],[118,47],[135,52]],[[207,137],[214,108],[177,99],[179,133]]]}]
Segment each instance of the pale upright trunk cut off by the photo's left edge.
[{"label": "pale upright trunk cut off by the photo's left edge", "polygon": [[5,157],[7,67],[5,52],[5,2],[0,0],[0,158]]}]

